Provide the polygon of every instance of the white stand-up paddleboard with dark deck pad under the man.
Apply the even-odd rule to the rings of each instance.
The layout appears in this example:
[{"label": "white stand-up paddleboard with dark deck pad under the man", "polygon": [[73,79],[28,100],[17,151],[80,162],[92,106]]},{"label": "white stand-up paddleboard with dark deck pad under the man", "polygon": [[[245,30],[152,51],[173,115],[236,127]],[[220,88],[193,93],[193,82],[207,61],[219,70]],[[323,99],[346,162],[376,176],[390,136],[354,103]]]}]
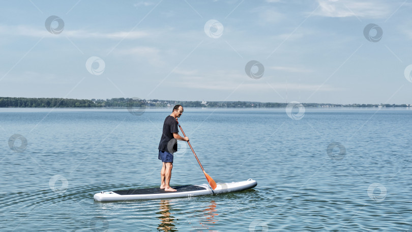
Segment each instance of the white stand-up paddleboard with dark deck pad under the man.
[{"label": "white stand-up paddleboard with dark deck pad under the man", "polygon": [[212,195],[226,192],[237,192],[246,189],[253,188],[257,185],[257,182],[249,179],[247,181],[221,183],[217,184],[215,190],[213,190],[208,184],[202,185],[183,185],[172,186],[176,189],[175,192],[164,191],[160,188],[145,188],[145,189],[130,189],[119,190],[112,192],[99,192],[96,193],[94,198],[97,201],[115,201],[115,200],[141,200],[141,199],[161,199],[161,198],[174,198],[174,197],[192,197],[202,195]]}]

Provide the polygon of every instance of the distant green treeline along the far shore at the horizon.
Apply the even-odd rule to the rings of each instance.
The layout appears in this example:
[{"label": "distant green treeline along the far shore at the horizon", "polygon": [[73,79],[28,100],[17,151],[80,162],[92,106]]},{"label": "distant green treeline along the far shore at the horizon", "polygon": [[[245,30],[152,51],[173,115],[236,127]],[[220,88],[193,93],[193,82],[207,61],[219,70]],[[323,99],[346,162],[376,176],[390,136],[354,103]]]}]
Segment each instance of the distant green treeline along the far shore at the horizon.
[{"label": "distant green treeline along the far shore at the horizon", "polygon": [[[0,107],[172,107],[176,104],[184,107],[220,107],[220,108],[284,108],[287,103],[245,102],[245,101],[174,101],[141,100],[136,98],[112,99],[67,99],[67,98],[9,98],[0,97]],[[410,107],[410,104],[326,104],[302,103],[305,107]]]}]

